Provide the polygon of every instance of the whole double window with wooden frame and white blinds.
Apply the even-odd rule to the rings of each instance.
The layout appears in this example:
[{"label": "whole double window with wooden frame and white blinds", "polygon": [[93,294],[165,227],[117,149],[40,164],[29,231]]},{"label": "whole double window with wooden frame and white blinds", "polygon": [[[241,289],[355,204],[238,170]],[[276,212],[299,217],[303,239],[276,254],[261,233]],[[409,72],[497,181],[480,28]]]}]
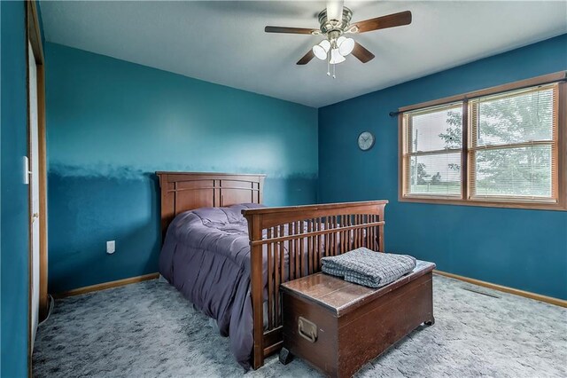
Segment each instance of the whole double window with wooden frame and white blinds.
[{"label": "whole double window with wooden frame and white blinds", "polygon": [[567,209],[564,77],[400,109],[400,201]]}]

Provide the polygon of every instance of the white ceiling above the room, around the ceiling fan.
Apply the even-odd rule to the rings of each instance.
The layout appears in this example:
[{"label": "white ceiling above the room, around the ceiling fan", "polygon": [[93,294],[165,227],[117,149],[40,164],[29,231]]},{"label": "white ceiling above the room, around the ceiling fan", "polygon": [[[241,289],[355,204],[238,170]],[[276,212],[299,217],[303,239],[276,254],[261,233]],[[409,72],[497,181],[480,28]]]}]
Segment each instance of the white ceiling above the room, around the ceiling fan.
[{"label": "white ceiling above the room, around the ceiling fan", "polygon": [[49,42],[315,107],[567,32],[564,0],[346,0],[346,6],[353,22],[405,10],[413,22],[355,35],[376,58],[362,64],[347,57],[333,80],[324,61],[295,64],[321,36],[263,31],[318,28],[324,1],[41,3]]}]

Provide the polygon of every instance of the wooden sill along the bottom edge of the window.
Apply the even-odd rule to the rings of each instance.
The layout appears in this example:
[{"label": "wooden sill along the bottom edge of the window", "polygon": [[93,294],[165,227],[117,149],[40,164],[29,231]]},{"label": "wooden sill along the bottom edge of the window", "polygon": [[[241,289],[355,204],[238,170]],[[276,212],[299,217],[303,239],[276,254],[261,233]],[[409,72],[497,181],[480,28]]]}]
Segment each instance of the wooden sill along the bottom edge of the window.
[{"label": "wooden sill along the bottom edge of the window", "polygon": [[484,208],[504,208],[504,209],[532,209],[532,210],[555,210],[567,211],[562,203],[549,202],[512,202],[512,201],[478,201],[478,200],[462,200],[458,198],[447,197],[418,197],[418,196],[400,196],[400,202],[413,203],[430,203],[438,205],[457,205],[457,206],[478,206]]}]

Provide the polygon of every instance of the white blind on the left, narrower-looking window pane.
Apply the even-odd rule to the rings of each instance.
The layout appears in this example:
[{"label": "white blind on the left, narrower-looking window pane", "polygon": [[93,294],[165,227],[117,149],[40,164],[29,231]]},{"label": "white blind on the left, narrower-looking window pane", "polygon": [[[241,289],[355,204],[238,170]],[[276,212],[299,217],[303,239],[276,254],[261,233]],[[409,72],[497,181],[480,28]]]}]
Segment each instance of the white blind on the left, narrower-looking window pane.
[{"label": "white blind on the left, narrower-looking window pane", "polygon": [[407,195],[461,197],[462,102],[404,114]]}]

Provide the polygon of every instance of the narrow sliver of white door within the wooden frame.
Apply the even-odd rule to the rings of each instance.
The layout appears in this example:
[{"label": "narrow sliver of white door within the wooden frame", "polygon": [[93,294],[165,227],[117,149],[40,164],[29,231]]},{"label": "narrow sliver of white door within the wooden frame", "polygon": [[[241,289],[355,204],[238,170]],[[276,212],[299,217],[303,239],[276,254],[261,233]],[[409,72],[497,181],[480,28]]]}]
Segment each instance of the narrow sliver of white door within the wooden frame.
[{"label": "narrow sliver of white door within the wooden frame", "polygon": [[37,123],[37,67],[35,66],[34,51],[31,43],[27,43],[28,63],[29,63],[29,161],[30,161],[30,180],[31,185],[31,214],[30,219],[32,227],[32,280],[31,280],[31,335],[32,350],[34,348],[35,331],[37,329],[37,321],[39,318],[39,138]]}]

